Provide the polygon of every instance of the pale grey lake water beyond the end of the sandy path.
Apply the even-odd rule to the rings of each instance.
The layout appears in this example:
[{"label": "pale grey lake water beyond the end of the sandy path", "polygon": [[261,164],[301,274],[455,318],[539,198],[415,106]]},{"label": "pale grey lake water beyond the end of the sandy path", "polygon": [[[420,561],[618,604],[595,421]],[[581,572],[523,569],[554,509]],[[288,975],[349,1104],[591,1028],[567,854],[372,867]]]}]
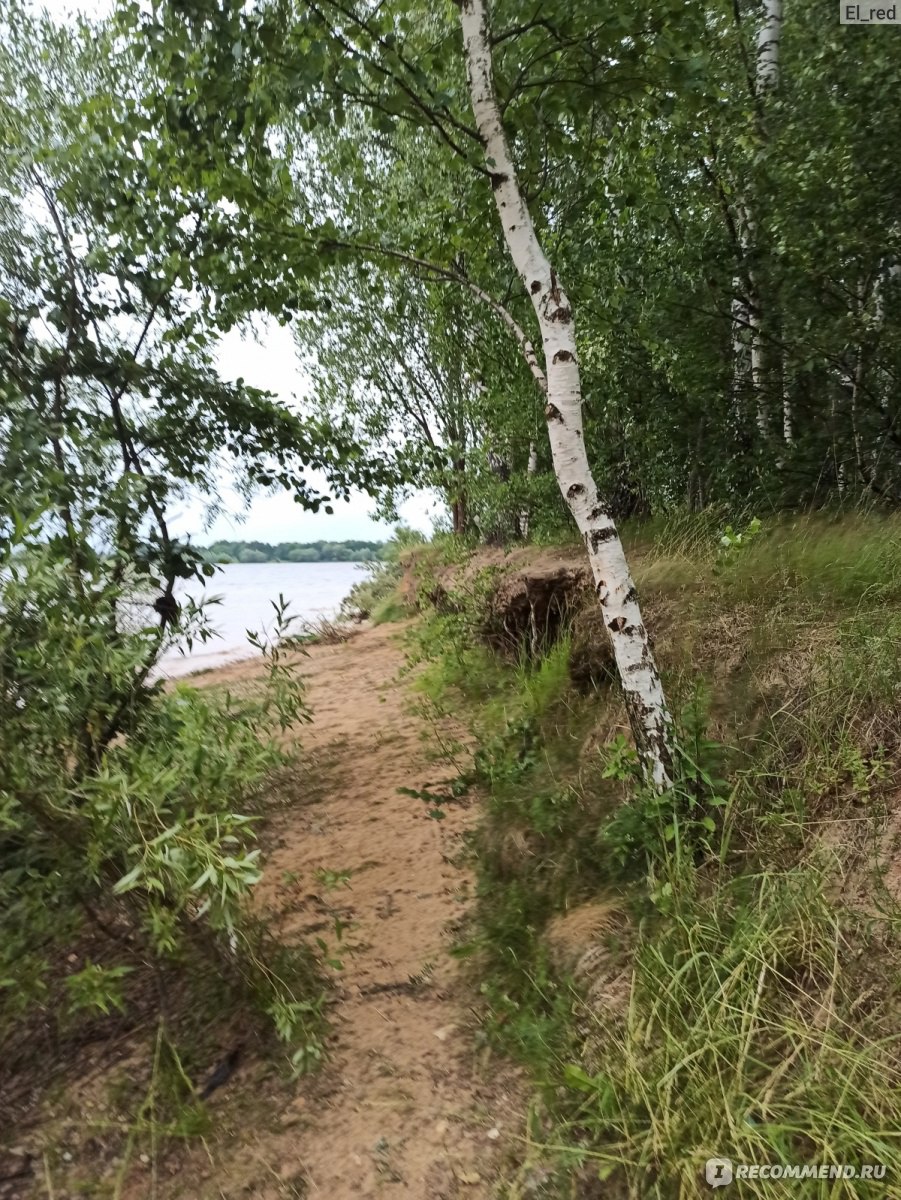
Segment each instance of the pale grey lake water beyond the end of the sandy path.
[{"label": "pale grey lake water beyond the end of the sandy path", "polygon": [[208,610],[220,636],[204,643],[194,642],[190,653],[168,650],[160,671],[182,676],[251,658],[259,652],[247,643],[247,630],[271,630],[275,617],[271,600],[283,595],[290,604],[288,612],[301,620],[334,617],[341,601],[362,577],[360,563],[226,563],[205,587],[191,582],[178,593],[194,600],[221,596],[222,602]]}]

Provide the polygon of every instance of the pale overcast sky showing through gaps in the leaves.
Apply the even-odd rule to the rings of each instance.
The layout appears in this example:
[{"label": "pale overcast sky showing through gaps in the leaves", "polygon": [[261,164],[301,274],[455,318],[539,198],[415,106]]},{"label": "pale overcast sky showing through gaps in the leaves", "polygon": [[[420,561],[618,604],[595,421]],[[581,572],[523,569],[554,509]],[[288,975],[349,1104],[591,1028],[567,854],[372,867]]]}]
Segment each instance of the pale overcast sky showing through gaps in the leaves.
[{"label": "pale overcast sky showing through gaps in the leaves", "polygon": [[[113,0],[32,0],[35,10],[46,10],[56,20],[66,19],[74,12],[88,16],[103,16],[112,11]],[[218,353],[218,368],[224,379],[238,379],[239,376],[254,388],[265,388],[276,396],[289,400],[292,396],[306,396],[308,382],[298,370],[298,356],[289,329],[275,322],[260,323],[258,340],[242,337],[233,331],[222,338]],[[328,492],[328,484],[319,472],[308,472],[307,479],[318,491]],[[222,498],[228,515],[222,515],[206,528],[204,505],[186,504],[173,514],[170,522],[173,532],[191,535],[197,541],[218,538],[244,539],[247,541],[341,541],[344,538],[385,538],[390,526],[380,524],[371,516],[373,504],[362,492],[355,492],[349,500],[335,502],[335,514],[305,512],[289,494],[257,496],[250,504],[228,487],[223,487]],[[426,494],[414,496],[401,506],[401,516],[416,529],[428,530],[432,517],[439,511],[433,498]]]}]

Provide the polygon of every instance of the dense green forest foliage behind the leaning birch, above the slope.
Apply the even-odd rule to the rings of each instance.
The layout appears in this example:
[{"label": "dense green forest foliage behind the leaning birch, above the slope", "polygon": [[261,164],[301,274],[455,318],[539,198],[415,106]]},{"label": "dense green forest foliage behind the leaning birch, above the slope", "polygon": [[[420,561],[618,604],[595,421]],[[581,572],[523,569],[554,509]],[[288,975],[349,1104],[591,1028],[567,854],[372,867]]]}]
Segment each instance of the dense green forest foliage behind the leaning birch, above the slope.
[{"label": "dense green forest foliage behind the leaning birch, above the slope", "polygon": [[[540,396],[504,317],[528,332],[528,298],[499,248],[453,7],[130,19],[162,97],[139,112],[182,191],[204,186],[211,212],[244,204],[265,294],[308,298],[311,410],[439,488],[458,529],[492,530],[498,481],[507,534],[523,494],[553,520]],[[590,455],[620,511],[897,493],[901,64],[890,38],[801,2],[764,80],[763,20],[750,2],[492,13],[504,120],[577,304]],[[234,145],[210,115],[226,95]],[[229,283],[233,304],[259,302],[258,281]]]}]

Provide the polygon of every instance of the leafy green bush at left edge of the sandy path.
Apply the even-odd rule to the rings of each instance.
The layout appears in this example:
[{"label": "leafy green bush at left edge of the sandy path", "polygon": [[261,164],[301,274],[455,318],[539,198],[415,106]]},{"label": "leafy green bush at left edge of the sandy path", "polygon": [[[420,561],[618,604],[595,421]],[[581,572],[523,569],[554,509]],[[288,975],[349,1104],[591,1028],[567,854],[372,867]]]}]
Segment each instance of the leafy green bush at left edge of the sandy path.
[{"label": "leafy green bush at left edge of the sandy path", "polygon": [[292,618],[280,600],[259,683],[236,697],[150,682],[174,635],[124,620],[130,599],[109,562],[77,572],[40,533],[0,558],[0,1034],[124,1010],[133,970],[199,955],[306,1063],[312,955],[293,982],[274,970],[247,906],[277,734],[307,716],[278,648]]}]

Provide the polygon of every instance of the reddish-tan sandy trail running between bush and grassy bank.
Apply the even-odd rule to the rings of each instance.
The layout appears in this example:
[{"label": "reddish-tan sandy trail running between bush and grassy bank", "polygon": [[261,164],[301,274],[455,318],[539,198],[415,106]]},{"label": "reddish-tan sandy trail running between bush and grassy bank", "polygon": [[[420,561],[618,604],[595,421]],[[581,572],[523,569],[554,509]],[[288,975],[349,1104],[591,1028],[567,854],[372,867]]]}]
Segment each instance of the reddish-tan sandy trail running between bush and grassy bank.
[{"label": "reddish-tan sandy trail running between bush and grassy bank", "polygon": [[397,679],[402,662],[397,626],[312,649],[302,673],[313,722],[299,738],[317,800],[288,811],[268,860],[264,902],[286,932],[334,944],[334,914],[349,923],[330,1062],[281,1129],[251,1139],[274,1174],[299,1170],[310,1200],[493,1196],[519,1132],[521,1080],[479,1050],[475,997],[449,955],[474,814],[455,805],[434,821],[397,791],[443,773]]}]

